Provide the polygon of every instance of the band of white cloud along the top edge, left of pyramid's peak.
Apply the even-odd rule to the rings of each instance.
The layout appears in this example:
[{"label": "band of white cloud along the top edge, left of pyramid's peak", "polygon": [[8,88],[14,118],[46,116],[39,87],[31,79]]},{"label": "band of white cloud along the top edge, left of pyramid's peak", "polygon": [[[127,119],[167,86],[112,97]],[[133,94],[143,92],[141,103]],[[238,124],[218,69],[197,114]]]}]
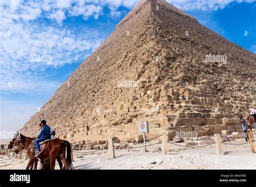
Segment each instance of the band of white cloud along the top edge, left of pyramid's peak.
[{"label": "band of white cloud along the top edge, left of pyramid's peak", "polygon": [[90,17],[98,19],[100,15],[104,15],[104,7],[111,10],[111,16],[120,16],[120,6],[131,9],[138,2],[139,0],[10,0],[0,2],[0,11],[5,19],[31,21],[43,16],[56,20],[61,26],[62,21],[70,16],[83,16],[85,20]]}]

